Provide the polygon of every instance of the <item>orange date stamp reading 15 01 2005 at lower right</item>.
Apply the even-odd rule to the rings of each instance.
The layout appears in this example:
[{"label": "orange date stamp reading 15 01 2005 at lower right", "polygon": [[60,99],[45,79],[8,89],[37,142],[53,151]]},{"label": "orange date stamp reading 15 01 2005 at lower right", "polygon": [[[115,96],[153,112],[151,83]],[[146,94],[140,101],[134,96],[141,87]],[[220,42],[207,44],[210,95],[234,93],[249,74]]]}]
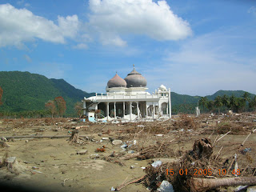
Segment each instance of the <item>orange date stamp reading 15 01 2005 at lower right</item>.
[{"label": "orange date stamp reading 15 01 2005 at lower right", "polygon": [[[232,174],[240,175],[240,170],[232,170]],[[167,169],[166,170],[167,175],[174,175],[174,169]],[[193,175],[193,176],[200,176],[200,175],[207,175],[211,176],[213,175],[212,169],[193,169],[193,171],[189,171],[187,169],[180,169],[178,170],[179,175]],[[226,175],[226,169],[218,169],[218,174],[219,175]]]}]

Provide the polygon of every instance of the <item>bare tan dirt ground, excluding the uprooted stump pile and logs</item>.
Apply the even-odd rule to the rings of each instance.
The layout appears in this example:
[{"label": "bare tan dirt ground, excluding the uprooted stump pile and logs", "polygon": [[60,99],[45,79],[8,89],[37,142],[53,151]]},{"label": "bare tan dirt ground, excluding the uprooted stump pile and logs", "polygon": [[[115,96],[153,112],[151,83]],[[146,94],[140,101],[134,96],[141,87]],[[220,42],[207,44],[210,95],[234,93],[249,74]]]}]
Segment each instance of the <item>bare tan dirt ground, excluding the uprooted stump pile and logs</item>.
[{"label": "bare tan dirt ground, excluding the uprooted stump pile and logs", "polygon": [[[256,132],[241,144],[255,127],[256,114],[248,113],[202,114],[198,118],[179,114],[165,122],[102,124],[72,118],[0,119],[0,138],[8,140],[0,146],[0,181],[10,186],[31,187],[34,191],[110,191],[112,186],[116,188],[141,178],[146,174],[142,167],[156,160],[177,162],[200,138],[216,142],[213,161],[231,162],[237,154],[238,167],[244,170],[242,175],[252,176],[256,167]],[[76,129],[80,137],[72,142],[69,137]],[[61,135],[68,137],[35,138]],[[129,147],[123,149],[123,143],[114,146],[113,140],[122,140]],[[123,159],[142,149],[147,149],[148,154]],[[81,150],[87,150],[86,154],[78,154]],[[12,169],[5,164],[8,157],[16,157]],[[234,191],[234,188],[219,190]],[[141,182],[125,186],[122,191],[149,190]]]}]

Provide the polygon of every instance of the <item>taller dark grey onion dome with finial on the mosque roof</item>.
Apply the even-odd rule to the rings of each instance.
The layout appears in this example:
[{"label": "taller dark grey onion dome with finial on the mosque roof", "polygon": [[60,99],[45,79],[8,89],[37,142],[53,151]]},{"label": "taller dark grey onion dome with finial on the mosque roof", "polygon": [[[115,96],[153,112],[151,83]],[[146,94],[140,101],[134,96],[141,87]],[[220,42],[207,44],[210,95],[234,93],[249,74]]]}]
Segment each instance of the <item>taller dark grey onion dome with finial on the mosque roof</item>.
[{"label": "taller dark grey onion dome with finial on the mosque roof", "polygon": [[146,87],[146,78],[139,74],[138,71],[134,70],[127,74],[125,78],[127,87]]}]

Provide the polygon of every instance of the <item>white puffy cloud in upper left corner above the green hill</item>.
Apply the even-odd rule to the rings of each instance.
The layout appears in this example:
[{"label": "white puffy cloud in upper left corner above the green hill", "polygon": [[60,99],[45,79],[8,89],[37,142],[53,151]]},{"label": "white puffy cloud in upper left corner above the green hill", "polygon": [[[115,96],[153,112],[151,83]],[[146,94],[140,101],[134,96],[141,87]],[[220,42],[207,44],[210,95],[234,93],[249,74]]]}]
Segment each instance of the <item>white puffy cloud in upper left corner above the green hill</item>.
[{"label": "white puffy cloud in upper left corner above the green hill", "polygon": [[65,38],[75,38],[78,16],[58,16],[53,21],[34,15],[30,10],[16,9],[10,4],[0,5],[0,47],[22,46],[23,42],[40,38],[48,42],[65,43]]}]

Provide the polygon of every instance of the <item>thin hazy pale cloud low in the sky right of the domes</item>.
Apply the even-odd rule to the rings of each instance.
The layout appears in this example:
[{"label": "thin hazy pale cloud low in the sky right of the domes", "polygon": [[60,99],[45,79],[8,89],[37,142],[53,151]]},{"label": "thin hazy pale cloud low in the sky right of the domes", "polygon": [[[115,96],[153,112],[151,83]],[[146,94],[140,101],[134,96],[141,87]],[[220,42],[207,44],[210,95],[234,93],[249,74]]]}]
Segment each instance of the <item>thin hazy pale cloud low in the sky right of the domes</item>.
[{"label": "thin hazy pale cloud low in the sky right of the domes", "polygon": [[[255,94],[255,50],[252,46],[245,47],[255,37],[235,30],[222,29],[221,33],[185,41],[178,51],[161,61],[164,64],[148,67],[150,70],[145,73],[148,85],[163,83],[179,94],[201,96],[217,90],[246,90]],[[250,55],[245,50],[250,50]]]}]

